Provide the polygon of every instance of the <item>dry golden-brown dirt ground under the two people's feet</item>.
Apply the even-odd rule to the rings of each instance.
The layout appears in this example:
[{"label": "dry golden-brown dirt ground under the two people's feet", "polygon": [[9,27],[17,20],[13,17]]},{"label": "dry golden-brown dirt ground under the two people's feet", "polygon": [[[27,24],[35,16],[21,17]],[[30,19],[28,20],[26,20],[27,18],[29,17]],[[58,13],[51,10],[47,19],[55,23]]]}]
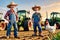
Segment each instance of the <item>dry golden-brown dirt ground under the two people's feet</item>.
[{"label": "dry golden-brown dirt ground under the two people's feet", "polygon": [[[59,32],[59,30],[56,30],[56,33]],[[43,30],[42,31],[42,35],[44,37],[39,37],[39,36],[32,36],[34,32],[33,31],[19,31],[18,32],[18,38],[14,38],[14,32],[12,31],[11,32],[11,35],[10,35],[10,38],[7,39],[6,38],[6,31],[0,31],[0,40],[44,40],[44,38],[46,38],[46,36],[48,36],[48,31],[46,30]],[[37,35],[38,35],[38,32],[37,32]],[[47,38],[46,38],[47,40]]]}]

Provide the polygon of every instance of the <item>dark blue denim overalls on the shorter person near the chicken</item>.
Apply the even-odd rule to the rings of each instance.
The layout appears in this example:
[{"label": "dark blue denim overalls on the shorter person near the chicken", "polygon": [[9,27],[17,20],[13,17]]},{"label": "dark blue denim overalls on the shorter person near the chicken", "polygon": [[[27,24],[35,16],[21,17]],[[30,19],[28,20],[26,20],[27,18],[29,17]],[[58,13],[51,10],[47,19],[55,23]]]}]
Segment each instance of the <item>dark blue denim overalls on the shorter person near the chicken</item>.
[{"label": "dark blue denim overalls on the shorter person near the chicken", "polygon": [[36,28],[37,28],[37,26],[38,26],[38,30],[39,30],[39,32],[41,32],[42,31],[42,28],[41,28],[41,25],[39,24],[39,22],[40,22],[40,13],[34,13],[33,14],[33,16],[32,16],[32,18],[33,18],[33,28],[34,28],[34,32],[36,33],[37,32],[37,30],[36,30]]}]

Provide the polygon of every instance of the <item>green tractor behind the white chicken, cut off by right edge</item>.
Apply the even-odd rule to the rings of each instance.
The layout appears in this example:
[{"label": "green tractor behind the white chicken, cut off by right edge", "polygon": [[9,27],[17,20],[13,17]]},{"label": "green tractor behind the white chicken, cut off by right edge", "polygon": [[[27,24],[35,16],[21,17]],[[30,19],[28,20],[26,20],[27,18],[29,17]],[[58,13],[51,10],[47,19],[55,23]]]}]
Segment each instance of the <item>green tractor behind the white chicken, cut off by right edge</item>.
[{"label": "green tractor behind the white chicken, cut off by right edge", "polygon": [[49,20],[50,26],[54,26],[54,24],[56,24],[57,28],[60,29],[60,13],[52,12],[50,14],[50,19],[48,20]]}]

